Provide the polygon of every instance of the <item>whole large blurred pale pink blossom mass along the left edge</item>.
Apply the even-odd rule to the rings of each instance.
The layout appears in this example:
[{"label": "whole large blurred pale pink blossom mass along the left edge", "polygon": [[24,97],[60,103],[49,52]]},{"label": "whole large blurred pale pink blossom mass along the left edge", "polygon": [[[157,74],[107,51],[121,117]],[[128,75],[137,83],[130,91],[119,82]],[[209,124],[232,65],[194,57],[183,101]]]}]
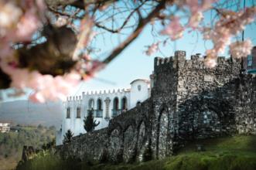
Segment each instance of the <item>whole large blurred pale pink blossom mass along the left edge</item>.
[{"label": "whole large blurred pale pink blossom mass along the left edge", "polygon": [[0,0],[0,66],[12,79],[12,87],[32,88],[29,97],[35,102],[46,100],[65,100],[80,81],[76,72],[64,76],[42,75],[38,71],[19,68],[15,59],[15,42],[30,42],[32,35],[43,26],[43,12],[46,5],[43,0],[4,1]]}]

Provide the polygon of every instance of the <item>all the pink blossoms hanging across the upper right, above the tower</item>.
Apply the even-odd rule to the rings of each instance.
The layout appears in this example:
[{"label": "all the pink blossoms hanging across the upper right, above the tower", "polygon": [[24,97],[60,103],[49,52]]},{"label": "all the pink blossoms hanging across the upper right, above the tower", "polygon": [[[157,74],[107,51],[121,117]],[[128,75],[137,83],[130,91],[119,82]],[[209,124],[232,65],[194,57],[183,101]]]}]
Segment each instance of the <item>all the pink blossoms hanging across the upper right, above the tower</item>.
[{"label": "all the pink blossoms hanging across the upper right, above the tower", "polygon": [[[185,29],[198,29],[203,33],[204,39],[213,42],[213,49],[207,49],[207,58],[205,59],[205,65],[210,68],[217,66],[217,56],[224,53],[227,46],[230,47],[231,56],[235,58],[241,58],[251,53],[252,44],[249,39],[244,42],[230,43],[234,36],[237,36],[245,29],[245,26],[254,21],[256,15],[256,7],[245,8],[239,12],[216,9],[220,19],[213,28],[200,26],[200,22],[203,20],[203,12],[212,8],[214,2],[217,2],[217,0],[175,1],[179,8],[189,9],[188,23],[183,26],[179,16],[172,15],[169,19],[169,25],[160,32],[162,35],[169,36],[171,40],[176,40],[183,37]],[[152,46],[148,46],[146,54],[150,56],[156,51],[155,43],[153,43]]]}]

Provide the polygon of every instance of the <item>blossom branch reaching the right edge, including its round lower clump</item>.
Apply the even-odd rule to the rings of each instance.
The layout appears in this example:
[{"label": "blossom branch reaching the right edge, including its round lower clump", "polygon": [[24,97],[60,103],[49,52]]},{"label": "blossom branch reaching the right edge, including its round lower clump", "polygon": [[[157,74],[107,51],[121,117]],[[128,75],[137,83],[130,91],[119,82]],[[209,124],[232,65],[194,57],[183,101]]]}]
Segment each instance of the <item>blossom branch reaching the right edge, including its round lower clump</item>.
[{"label": "blossom branch reaching the right edge, including its round lower clump", "polygon": [[[256,8],[246,8],[244,11],[233,12],[230,10],[220,10],[220,20],[217,21],[213,29],[204,28],[204,39],[213,41],[213,49],[207,51],[207,56],[217,58],[218,53],[224,53],[227,46],[230,45],[231,38],[244,30],[247,24],[254,21]],[[230,45],[230,54],[236,58],[247,56],[251,53],[251,41],[234,42]],[[235,50],[232,52],[232,50]],[[237,50],[241,50],[239,53]]]}]

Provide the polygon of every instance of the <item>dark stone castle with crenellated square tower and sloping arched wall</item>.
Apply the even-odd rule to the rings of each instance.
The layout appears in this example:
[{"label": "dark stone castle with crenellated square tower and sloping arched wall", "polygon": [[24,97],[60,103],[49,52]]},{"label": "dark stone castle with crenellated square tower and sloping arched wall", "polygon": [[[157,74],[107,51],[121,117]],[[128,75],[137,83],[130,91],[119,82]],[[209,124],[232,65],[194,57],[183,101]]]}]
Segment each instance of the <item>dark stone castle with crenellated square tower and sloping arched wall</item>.
[{"label": "dark stone castle with crenellated square tower and sloping arched wall", "polygon": [[[189,141],[231,134],[256,134],[256,77],[242,74],[241,60],[185,51],[155,58],[150,97],[112,118],[107,128],[77,135],[60,145],[63,157],[101,162],[165,158]],[[135,105],[134,105],[135,106]]]}]

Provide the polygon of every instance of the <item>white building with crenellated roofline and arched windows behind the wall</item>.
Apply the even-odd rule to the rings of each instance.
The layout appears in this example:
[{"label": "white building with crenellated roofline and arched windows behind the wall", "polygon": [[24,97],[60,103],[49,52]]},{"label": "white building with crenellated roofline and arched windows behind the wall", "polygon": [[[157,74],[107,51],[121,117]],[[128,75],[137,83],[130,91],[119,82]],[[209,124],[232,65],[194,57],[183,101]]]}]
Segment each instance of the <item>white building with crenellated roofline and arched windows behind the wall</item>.
[{"label": "white building with crenellated roofline and arched windows behind the wall", "polygon": [[73,136],[84,134],[84,117],[93,110],[94,120],[100,121],[95,128],[108,126],[111,117],[125,112],[150,97],[150,83],[148,80],[134,80],[127,90],[113,90],[106,92],[83,93],[79,97],[68,97],[63,104],[62,126],[56,134],[56,145],[61,145],[63,136],[70,129]]}]

